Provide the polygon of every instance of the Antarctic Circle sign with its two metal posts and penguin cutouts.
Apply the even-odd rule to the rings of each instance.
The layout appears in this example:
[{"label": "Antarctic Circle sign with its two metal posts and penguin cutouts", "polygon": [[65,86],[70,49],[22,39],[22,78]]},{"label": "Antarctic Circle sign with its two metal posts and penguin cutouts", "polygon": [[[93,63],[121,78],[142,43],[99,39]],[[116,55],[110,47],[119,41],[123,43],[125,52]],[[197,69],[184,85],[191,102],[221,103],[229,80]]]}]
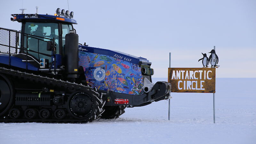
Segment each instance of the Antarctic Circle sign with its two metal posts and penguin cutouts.
[{"label": "Antarctic Circle sign with its two metal posts and penguin cutouts", "polygon": [[[212,50],[209,59],[206,53],[202,53],[204,57],[203,68],[171,68],[171,52],[168,68],[168,83],[172,85],[172,92],[200,92],[213,93],[213,123],[215,124],[215,80],[216,80],[216,64],[218,64],[218,56]],[[200,61],[198,60],[198,61]],[[210,62],[211,61],[211,62]],[[212,67],[208,68],[208,63]],[[170,120],[171,102],[169,99],[169,120]]]}]

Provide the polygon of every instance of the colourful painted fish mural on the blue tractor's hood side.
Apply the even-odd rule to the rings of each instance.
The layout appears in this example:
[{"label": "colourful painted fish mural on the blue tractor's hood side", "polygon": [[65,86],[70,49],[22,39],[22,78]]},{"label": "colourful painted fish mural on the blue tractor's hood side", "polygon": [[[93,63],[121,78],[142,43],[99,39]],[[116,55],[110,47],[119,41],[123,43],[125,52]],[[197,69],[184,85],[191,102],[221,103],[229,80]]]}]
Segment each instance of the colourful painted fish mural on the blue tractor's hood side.
[{"label": "colourful painted fish mural on the blue tractor's hood side", "polygon": [[[92,88],[132,95],[143,94],[143,78],[139,65],[108,55],[82,51],[79,51],[79,59],[79,66],[84,68],[86,82]],[[104,73],[99,76],[105,77],[97,77],[96,80],[94,73]]]}]

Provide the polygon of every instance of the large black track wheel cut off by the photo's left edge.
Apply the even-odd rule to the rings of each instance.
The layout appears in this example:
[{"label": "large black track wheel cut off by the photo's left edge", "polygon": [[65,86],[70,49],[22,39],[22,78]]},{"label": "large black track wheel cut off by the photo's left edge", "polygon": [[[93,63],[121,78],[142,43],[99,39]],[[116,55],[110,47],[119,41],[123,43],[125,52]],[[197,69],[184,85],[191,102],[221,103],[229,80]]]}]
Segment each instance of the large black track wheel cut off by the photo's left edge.
[{"label": "large black track wheel cut off by the photo's left edge", "polygon": [[7,113],[13,105],[13,88],[11,81],[0,74],[0,116]]}]

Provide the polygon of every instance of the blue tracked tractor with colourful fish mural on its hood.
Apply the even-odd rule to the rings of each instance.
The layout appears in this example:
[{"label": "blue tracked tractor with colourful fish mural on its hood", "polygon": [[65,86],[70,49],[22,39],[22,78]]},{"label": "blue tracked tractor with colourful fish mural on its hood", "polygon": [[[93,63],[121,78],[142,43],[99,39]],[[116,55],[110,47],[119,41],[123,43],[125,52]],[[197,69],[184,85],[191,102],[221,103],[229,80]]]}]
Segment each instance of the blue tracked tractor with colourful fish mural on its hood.
[{"label": "blue tracked tractor with colourful fish mural on its hood", "polygon": [[0,28],[1,122],[92,122],[170,96],[147,59],[79,44],[73,12],[11,20],[21,30]]}]

